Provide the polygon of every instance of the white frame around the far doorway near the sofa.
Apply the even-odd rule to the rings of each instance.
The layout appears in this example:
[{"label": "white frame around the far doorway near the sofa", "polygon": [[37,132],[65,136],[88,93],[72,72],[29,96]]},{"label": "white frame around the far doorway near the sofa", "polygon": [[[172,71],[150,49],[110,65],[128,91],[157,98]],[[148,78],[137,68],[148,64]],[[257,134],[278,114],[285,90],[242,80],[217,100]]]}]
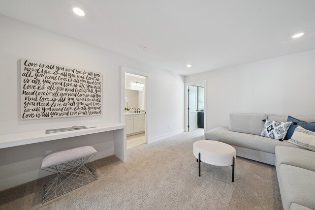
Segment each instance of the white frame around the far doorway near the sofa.
[{"label": "white frame around the far doorway near the sofa", "polygon": [[[205,119],[204,119],[204,132],[207,131],[207,80],[200,80],[196,82],[185,83],[185,132],[188,132],[188,87],[189,85],[197,85],[203,83],[205,85]],[[198,93],[197,93],[198,94]]]}]

